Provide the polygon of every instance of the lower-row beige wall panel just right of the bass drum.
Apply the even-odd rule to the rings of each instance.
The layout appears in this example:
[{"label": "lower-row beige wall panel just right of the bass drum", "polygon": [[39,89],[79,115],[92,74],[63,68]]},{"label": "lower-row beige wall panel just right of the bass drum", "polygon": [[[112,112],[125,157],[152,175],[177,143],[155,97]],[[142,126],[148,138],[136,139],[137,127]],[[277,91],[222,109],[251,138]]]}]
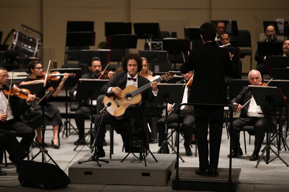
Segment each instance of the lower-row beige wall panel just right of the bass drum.
[{"label": "lower-row beige wall panel just right of the bass drum", "polygon": [[[105,41],[105,21],[127,21],[129,10],[107,8],[44,8],[43,31],[44,46],[55,47],[55,58],[60,67],[64,63],[65,33],[67,21],[94,21],[95,49],[97,44]],[[49,59],[48,59],[49,60]]]}]

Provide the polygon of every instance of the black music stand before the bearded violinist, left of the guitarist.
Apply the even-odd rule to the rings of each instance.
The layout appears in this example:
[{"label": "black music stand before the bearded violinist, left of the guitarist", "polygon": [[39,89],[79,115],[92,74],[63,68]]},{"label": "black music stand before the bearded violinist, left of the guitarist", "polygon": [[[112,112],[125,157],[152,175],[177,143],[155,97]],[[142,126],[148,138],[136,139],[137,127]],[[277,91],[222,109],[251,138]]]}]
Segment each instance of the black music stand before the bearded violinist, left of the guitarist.
[{"label": "black music stand before the bearded violinist, left of the guitarist", "polygon": [[[91,136],[91,134],[93,134],[92,122],[94,122],[92,120],[92,112],[93,112],[92,100],[97,100],[99,95],[104,94],[100,91],[100,89],[108,81],[109,81],[108,79],[79,79],[75,100],[76,101],[90,100],[90,128],[89,128],[89,131],[85,134],[85,136],[79,141],[79,143],[73,149],[73,151],[76,150],[80,142],[84,140],[87,135],[90,136],[89,148],[90,149],[92,148],[92,143],[94,140],[94,138]],[[84,145],[86,145],[86,142],[84,143]]]}]

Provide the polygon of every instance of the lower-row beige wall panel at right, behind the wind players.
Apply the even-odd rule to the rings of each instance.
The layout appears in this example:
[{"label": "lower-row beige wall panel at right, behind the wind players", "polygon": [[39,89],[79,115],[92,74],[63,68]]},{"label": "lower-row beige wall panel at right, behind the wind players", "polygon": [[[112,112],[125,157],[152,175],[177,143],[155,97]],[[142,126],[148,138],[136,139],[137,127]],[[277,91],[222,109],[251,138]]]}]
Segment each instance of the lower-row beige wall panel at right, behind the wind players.
[{"label": "lower-row beige wall panel at right, behind the wind players", "polygon": [[[251,33],[251,44],[252,44],[252,69],[255,69],[257,62],[254,59],[255,51],[257,48],[257,41],[259,37],[256,37],[256,33],[259,34],[259,28],[256,31],[256,23],[259,20],[268,20],[275,18],[286,18],[288,17],[288,10],[271,10],[268,14],[268,10],[249,10],[249,9],[240,9],[240,10],[221,10],[214,9],[212,10],[212,19],[213,20],[222,20],[222,19],[232,19],[237,20],[238,29],[247,29]],[[246,56],[248,57],[248,56]],[[247,73],[250,71],[250,59],[243,60],[242,72]]]}]

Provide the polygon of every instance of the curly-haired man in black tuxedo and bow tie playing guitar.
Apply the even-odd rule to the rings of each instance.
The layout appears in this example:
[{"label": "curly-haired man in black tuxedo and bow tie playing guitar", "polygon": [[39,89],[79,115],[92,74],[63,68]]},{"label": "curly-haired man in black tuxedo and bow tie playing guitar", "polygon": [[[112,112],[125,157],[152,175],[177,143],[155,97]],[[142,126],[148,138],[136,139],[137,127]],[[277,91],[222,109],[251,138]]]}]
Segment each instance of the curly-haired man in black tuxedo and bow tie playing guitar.
[{"label": "curly-haired man in black tuxedo and bow tie playing guitar", "polygon": [[[137,74],[142,69],[142,60],[138,54],[129,53],[122,58],[122,68],[123,72],[118,72],[114,75],[113,79],[110,80],[107,84],[105,84],[101,91],[106,93],[114,93],[116,95],[122,94],[122,91],[130,86],[133,85],[135,87],[141,87],[145,84],[150,83],[150,81],[144,77],[141,77]],[[141,93],[141,104],[140,106],[146,106],[146,102],[149,103],[154,100],[157,96],[157,82],[151,82],[151,88],[144,90]],[[130,105],[132,106],[132,105]],[[98,124],[101,121],[102,114],[99,114],[95,117],[95,130],[98,130]],[[105,125],[117,125],[127,119],[116,119],[114,116],[110,115],[109,113],[104,113],[104,117],[101,122],[101,126],[99,127],[98,134],[97,134],[97,157],[104,157],[105,152],[103,150],[103,140],[104,140],[104,129]],[[139,126],[138,126],[138,118],[131,118],[131,129],[132,129],[132,136],[133,140],[138,138],[139,135]],[[127,131],[127,130],[126,130]],[[125,151],[129,152],[131,148],[131,138],[129,134],[126,134],[126,137],[122,134],[123,142]]]}]

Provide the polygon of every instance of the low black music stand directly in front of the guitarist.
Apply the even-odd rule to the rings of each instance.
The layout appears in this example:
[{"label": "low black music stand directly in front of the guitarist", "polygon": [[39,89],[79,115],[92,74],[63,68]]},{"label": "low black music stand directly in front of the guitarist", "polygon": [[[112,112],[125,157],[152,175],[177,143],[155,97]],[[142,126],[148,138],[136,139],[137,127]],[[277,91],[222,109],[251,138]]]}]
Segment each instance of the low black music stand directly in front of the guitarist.
[{"label": "low black music stand directly in front of the guitarist", "polygon": [[[160,117],[161,114],[163,113],[163,108],[164,107],[128,107],[125,111],[125,113],[123,114],[124,118],[139,118],[139,130],[140,130],[140,135],[143,136],[143,129],[144,129],[144,123],[143,123],[143,118],[144,117]],[[142,138],[142,137],[141,137]],[[144,145],[143,145],[143,140],[139,139],[138,141],[133,141],[133,148],[132,150],[123,158],[123,160],[120,161],[120,163],[122,163],[126,157],[129,156],[129,154],[133,154],[133,160],[131,162],[135,162],[135,158],[138,159],[137,162],[141,162],[142,160],[144,160],[144,166],[147,166],[145,157],[148,156],[148,154],[151,154],[151,156],[154,158],[154,160],[157,162],[157,159],[154,157],[154,155],[152,154],[151,150],[148,148],[148,146],[146,147],[146,150],[149,151],[148,154],[145,154],[143,149],[144,149]],[[134,153],[134,148],[138,147],[139,148],[139,158],[135,155]]]}]

